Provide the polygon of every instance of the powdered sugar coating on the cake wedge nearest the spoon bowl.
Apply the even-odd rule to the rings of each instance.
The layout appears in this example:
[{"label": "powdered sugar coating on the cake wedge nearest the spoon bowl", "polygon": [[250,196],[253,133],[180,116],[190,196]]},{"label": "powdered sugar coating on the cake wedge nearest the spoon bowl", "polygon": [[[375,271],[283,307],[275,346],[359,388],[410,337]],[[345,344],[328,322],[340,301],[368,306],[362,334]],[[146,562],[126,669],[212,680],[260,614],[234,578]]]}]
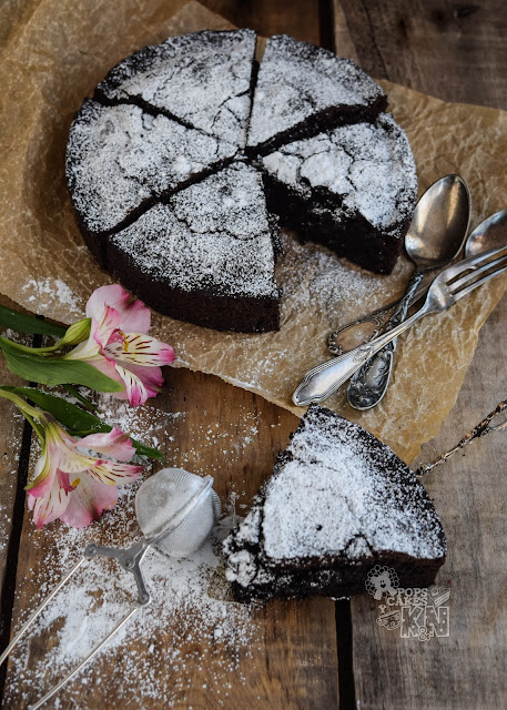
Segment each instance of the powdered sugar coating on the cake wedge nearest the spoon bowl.
[{"label": "powdered sugar coating on the cake wedge nearest the spoon bowl", "polygon": [[415,203],[417,179],[408,139],[387,113],[375,124],[346,125],[295,141],[262,162],[308,201],[310,211],[315,190],[334,197],[337,221],[347,211],[359,212],[374,226],[392,229]]}]

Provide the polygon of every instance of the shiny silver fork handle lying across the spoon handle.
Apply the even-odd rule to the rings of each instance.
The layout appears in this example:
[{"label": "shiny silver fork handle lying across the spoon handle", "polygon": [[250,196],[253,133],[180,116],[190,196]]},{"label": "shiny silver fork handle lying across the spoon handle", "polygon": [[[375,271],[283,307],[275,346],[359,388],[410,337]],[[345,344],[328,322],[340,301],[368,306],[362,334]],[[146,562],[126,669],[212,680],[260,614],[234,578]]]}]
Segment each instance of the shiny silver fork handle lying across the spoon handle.
[{"label": "shiny silver fork handle lying across the spoon handle", "polygon": [[292,398],[294,404],[298,407],[304,407],[313,402],[324,402],[324,399],[327,399],[327,397],[352,377],[364,363],[385,347],[387,343],[394,341],[398,335],[414,325],[414,323],[419,321],[419,318],[429,313],[434,313],[434,310],[428,305],[428,302],[426,302],[417,313],[414,313],[414,315],[388,333],[384,333],[374,341],[364,343],[355,349],[339,357],[334,357],[327,363],[317,365],[317,367],[308,371],[293,394]]}]

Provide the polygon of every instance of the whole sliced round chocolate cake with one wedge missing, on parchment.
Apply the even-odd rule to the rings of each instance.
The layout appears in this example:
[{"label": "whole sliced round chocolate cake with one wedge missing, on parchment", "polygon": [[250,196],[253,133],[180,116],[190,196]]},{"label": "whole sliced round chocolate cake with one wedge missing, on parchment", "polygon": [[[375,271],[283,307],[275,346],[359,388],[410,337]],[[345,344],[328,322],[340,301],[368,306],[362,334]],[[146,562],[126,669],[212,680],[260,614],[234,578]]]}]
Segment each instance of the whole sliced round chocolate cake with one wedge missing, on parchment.
[{"label": "whole sliced round chocolate cake with one wedge missing, on parchment", "polygon": [[[376,273],[400,253],[414,159],[382,89],[290,37],[204,31],[114,67],[72,123],[67,180],[101,265],[161,313],[278,327],[278,221]],[[283,284],[281,284],[283,286]]]}]

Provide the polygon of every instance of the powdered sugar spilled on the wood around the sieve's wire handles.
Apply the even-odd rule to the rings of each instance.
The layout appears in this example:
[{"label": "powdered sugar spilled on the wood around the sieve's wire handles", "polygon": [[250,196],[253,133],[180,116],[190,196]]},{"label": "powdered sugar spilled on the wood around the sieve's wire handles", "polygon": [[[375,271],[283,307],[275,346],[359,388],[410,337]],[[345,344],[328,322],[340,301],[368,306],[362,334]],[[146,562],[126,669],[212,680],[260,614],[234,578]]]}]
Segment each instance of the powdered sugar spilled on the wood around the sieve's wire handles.
[{"label": "powdered sugar spilled on the wood around the sieve's wire handles", "polygon": [[[141,532],[133,515],[136,487],[122,489],[119,505],[107,515],[109,527],[104,528],[101,544],[125,547],[139,539]],[[164,708],[173,707],[181,693],[197,682],[196,676],[207,683],[220,703],[229,696],[232,673],[235,684],[245,682],[245,665],[255,648],[257,628],[254,608],[229,600],[219,569],[221,540],[231,525],[232,519],[223,520],[204,547],[187,559],[169,559],[156,550],[148,552],[142,569],[152,595],[151,606],[141,609],[111,639],[98,660],[59,693],[57,703],[78,701],[83,686],[93,682],[105,702],[114,697],[114,707],[130,707],[132,702],[143,707],[143,699],[149,698]],[[33,608],[72,567],[87,542],[98,540],[97,536],[95,526],[84,530],[62,526],[59,531],[53,527],[52,557],[44,566]],[[37,536],[33,545],[39,545]],[[41,697],[112,629],[135,596],[132,576],[118,565],[103,559],[88,562],[34,627],[32,637],[45,632],[57,637],[43,660],[27,667],[27,643],[12,656],[14,681],[7,689],[6,702],[18,694],[31,701]]]}]

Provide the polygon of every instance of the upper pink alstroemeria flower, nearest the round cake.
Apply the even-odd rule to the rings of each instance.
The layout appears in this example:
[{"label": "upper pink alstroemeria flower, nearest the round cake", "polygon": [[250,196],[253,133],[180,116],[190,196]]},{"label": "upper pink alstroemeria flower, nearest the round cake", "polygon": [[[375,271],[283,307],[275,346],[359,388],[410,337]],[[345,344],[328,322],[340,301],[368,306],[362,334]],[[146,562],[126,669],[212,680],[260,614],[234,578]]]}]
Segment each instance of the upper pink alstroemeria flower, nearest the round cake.
[{"label": "upper pink alstroemeria flower, nearest the round cake", "polygon": [[88,362],[104,375],[123,384],[114,393],[135,407],[154,397],[163,384],[161,365],[174,361],[171,345],[146,335],[150,308],[120,285],[97,288],[87,303],[91,318],[90,337],[80,343],[64,359]]}]

